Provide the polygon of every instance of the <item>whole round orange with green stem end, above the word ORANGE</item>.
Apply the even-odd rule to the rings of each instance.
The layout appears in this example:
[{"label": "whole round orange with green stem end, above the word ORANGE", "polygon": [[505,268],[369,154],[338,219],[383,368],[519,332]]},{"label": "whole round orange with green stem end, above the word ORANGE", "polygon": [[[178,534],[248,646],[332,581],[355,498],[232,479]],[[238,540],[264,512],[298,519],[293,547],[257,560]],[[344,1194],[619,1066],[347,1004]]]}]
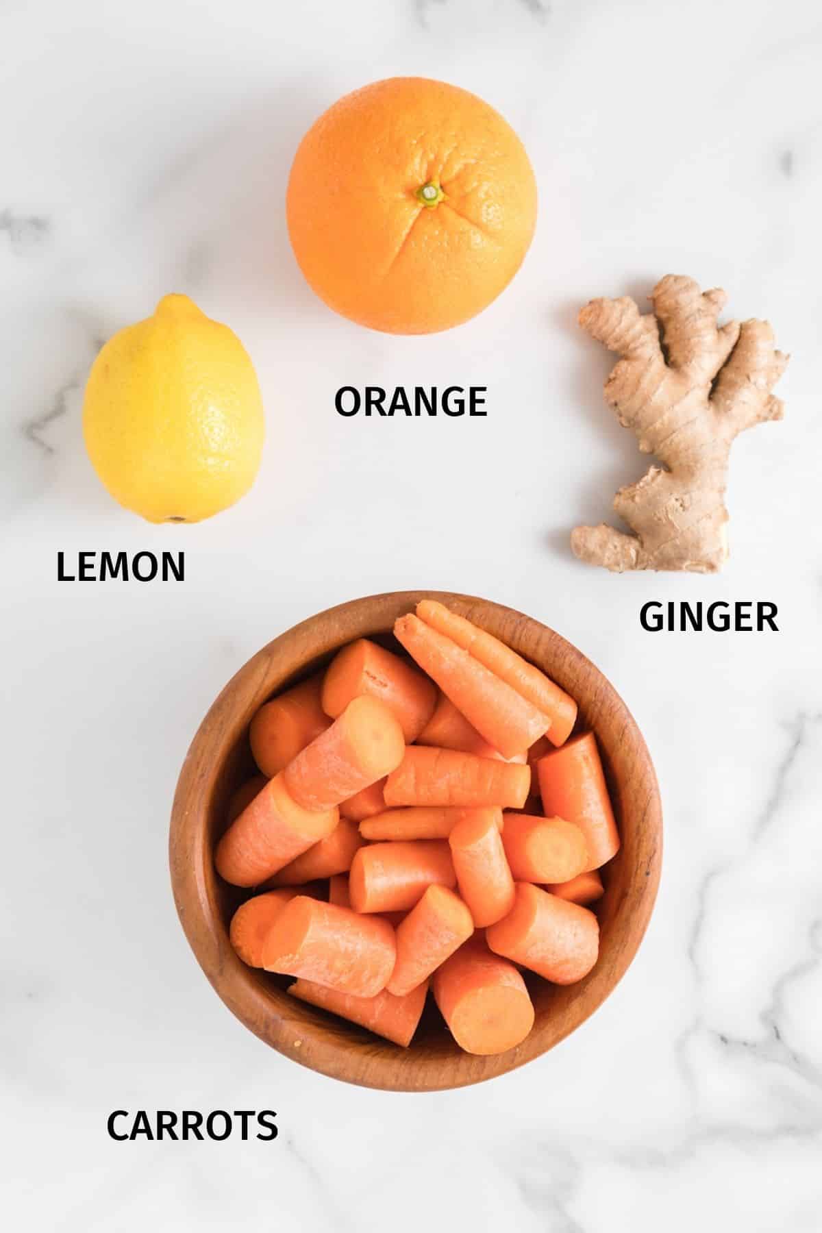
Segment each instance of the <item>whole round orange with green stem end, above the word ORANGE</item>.
[{"label": "whole round orange with green stem end, above the word ORANGE", "polygon": [[335,312],[392,334],[450,329],[516,274],[536,182],[514,129],[467,90],[388,78],[303,137],[287,191],[299,268]]}]

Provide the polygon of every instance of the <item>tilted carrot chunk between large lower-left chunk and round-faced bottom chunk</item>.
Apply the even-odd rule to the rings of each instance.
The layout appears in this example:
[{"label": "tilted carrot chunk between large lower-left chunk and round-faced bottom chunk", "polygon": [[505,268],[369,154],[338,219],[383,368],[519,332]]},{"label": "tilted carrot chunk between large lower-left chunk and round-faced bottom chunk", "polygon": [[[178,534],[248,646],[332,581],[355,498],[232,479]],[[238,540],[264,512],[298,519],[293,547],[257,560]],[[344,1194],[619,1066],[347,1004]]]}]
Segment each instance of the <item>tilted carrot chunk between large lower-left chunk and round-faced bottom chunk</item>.
[{"label": "tilted carrot chunk between large lower-left chunk and round-faced bottom chunk", "polygon": [[397,963],[386,985],[404,997],[473,933],[471,912],[447,887],[429,887],[397,926]]}]

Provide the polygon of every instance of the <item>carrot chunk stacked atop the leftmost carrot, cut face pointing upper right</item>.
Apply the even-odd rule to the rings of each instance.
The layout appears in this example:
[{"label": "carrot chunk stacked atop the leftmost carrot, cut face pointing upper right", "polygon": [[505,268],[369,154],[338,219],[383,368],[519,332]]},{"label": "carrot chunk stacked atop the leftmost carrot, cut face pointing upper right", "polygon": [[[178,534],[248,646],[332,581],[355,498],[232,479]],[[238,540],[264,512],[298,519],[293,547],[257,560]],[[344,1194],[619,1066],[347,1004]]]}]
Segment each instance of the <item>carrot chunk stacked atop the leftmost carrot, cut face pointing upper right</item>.
[{"label": "carrot chunk stacked atop the leftmost carrot, cut face pointing upper right", "polygon": [[355,698],[282,772],[303,809],[330,809],[399,766],[403,731],[385,703]]}]

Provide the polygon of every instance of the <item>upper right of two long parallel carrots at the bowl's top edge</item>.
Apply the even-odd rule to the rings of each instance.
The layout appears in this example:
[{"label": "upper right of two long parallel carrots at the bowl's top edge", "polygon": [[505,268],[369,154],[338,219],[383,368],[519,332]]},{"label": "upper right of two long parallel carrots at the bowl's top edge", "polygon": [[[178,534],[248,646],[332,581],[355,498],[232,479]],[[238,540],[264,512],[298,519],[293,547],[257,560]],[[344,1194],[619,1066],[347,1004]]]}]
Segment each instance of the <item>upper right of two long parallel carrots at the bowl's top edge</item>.
[{"label": "upper right of two long parallel carrots at the bowl's top edge", "polygon": [[547,715],[551,721],[547,735],[552,745],[562,745],[568,740],[577,721],[577,703],[571,694],[546,677],[545,672],[540,672],[493,634],[487,634],[484,629],[450,612],[445,604],[435,599],[423,599],[417,605],[417,615],[431,629],[439,630],[468,651],[474,660],[490,668],[500,681],[511,686],[518,694]]}]

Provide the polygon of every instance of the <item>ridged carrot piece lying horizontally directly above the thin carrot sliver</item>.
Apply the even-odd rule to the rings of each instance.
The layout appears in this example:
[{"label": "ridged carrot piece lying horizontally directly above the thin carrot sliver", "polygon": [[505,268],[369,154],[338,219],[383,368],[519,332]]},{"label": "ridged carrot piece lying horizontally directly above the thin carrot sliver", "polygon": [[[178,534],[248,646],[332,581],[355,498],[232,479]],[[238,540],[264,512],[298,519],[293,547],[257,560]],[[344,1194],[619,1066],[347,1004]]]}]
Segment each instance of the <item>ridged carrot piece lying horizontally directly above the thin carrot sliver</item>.
[{"label": "ridged carrot piece lying horizontally directly above the thin carrot sliver", "polygon": [[394,805],[499,805],[525,804],[531,784],[526,766],[479,758],[457,750],[412,745],[388,776],[383,795]]}]

